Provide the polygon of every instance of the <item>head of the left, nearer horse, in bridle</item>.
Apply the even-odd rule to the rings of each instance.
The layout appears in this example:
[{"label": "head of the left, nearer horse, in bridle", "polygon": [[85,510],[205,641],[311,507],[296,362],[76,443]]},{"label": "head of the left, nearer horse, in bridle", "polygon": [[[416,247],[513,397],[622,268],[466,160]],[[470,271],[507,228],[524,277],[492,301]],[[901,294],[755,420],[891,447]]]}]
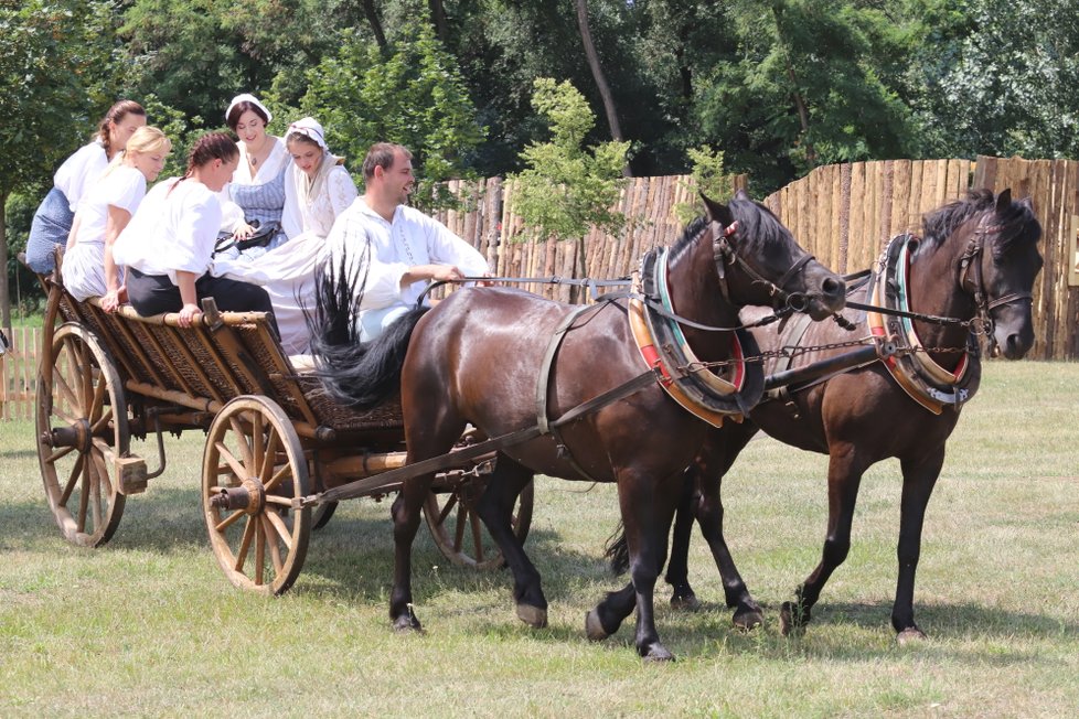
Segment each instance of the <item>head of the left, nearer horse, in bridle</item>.
[{"label": "head of the left, nearer horse, in bridle", "polygon": [[713,228],[716,269],[731,302],[792,309],[814,320],[843,309],[843,278],[802,249],[767,207],[741,190],[726,205],[702,198]]}]

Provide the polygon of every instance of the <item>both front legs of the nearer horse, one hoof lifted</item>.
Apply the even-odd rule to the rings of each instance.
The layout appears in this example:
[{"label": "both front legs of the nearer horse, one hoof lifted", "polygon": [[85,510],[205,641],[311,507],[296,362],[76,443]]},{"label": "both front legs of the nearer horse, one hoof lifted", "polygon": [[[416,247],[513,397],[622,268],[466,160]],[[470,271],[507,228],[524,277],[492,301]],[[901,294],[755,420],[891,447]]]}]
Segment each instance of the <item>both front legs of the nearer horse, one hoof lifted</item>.
[{"label": "both front legs of the nearer horse, one hoof lifted", "polygon": [[[632,591],[637,607],[634,644],[638,654],[649,662],[674,659],[674,655],[660,642],[655,630],[654,590],[655,580],[666,561],[667,534],[681,494],[681,487],[674,483],[681,479],[682,474],[677,473],[655,485],[637,474],[619,476],[618,497],[630,552],[632,584],[609,593],[585,618],[589,638],[602,638],[600,631],[609,635],[611,632],[607,630],[611,629],[611,624],[608,622],[619,615],[624,619],[632,611],[632,604],[629,611],[626,609],[627,595]],[[613,630],[618,629],[621,619],[612,622]]]}]

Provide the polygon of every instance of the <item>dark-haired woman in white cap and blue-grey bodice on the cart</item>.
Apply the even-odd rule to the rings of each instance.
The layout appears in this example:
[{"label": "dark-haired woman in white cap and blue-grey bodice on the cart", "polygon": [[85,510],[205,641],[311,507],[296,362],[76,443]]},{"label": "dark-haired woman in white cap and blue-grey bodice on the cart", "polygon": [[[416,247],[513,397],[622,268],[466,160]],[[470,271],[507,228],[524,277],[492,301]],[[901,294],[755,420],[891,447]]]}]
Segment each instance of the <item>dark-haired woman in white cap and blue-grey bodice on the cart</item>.
[{"label": "dark-haired woman in white cap and blue-grey bodice on the cart", "polygon": [[[234,240],[243,242],[255,234],[256,226],[274,228],[264,246],[243,250],[247,259],[259,257],[288,239],[280,225],[289,154],[285,142],[266,131],[273,118],[266,106],[248,93],[234,97],[225,111],[225,124],[239,138],[236,143],[239,164],[221,196],[221,229],[231,233]],[[228,255],[237,257],[239,253],[233,246]]]}]

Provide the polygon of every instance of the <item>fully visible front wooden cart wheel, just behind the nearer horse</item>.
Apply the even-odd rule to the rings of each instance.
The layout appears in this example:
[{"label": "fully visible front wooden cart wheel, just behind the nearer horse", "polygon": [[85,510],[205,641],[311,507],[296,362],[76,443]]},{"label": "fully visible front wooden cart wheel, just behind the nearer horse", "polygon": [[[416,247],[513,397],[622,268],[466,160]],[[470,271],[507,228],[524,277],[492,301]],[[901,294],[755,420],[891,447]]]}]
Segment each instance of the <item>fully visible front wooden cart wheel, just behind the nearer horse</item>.
[{"label": "fully visible front wooden cart wheel, just behind the nearer horse", "polygon": [[237,397],[210,425],[202,464],[202,503],[210,544],[241,589],[281,594],[303,567],[311,509],[308,466],[284,410],[261,396]]}]

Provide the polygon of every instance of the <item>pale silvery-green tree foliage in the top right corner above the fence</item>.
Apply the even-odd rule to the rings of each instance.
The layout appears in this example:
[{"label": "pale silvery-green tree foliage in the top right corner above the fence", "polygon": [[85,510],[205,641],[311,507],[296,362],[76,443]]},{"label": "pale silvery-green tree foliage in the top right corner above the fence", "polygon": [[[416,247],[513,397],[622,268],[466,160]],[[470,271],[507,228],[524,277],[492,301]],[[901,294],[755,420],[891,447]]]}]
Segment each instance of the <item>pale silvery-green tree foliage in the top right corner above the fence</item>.
[{"label": "pale silvery-green tree foliage in the top right corner above the fence", "polygon": [[908,82],[936,157],[1079,157],[1079,4],[922,0]]}]

